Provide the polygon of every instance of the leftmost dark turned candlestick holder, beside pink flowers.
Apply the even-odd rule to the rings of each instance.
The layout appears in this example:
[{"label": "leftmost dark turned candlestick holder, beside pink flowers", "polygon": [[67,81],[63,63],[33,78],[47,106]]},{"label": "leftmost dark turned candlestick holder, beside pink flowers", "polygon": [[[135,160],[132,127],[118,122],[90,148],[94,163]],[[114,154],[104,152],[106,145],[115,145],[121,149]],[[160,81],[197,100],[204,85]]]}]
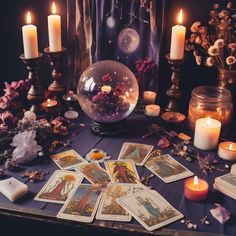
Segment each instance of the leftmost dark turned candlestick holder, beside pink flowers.
[{"label": "leftmost dark turned candlestick holder, beside pink flowers", "polygon": [[41,102],[43,100],[43,89],[39,85],[39,66],[42,61],[43,54],[39,53],[38,57],[25,58],[25,55],[20,55],[20,59],[26,65],[28,79],[31,82],[31,87],[27,94],[27,100],[30,102],[30,110],[36,114],[41,113]]}]

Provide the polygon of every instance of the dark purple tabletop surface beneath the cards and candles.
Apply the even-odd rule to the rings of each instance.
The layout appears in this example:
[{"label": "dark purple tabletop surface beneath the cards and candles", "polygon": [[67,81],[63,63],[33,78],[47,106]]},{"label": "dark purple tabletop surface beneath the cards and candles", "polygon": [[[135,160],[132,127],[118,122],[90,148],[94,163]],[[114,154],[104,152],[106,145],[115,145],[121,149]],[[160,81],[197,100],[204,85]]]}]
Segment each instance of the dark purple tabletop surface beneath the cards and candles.
[{"label": "dark purple tabletop surface beneath the cards and candles", "polygon": [[[80,132],[75,137],[71,137],[73,140],[72,148],[75,149],[81,156],[85,156],[87,152],[89,152],[92,148],[100,148],[106,151],[112,159],[117,159],[120,148],[123,142],[140,142],[156,145],[157,141],[160,137],[156,135],[152,135],[146,139],[142,139],[142,135],[147,133],[147,125],[151,123],[153,120],[146,118],[143,114],[133,114],[127,120],[128,122],[128,132],[127,135],[123,138],[102,138],[99,136],[94,136],[89,132],[89,120],[88,118],[81,115],[78,119],[79,123],[85,123],[85,127],[79,128]],[[67,148],[70,149],[70,148]],[[66,149],[65,149],[66,150]],[[61,149],[57,150],[60,152]],[[166,153],[170,152],[170,149],[165,151]],[[217,157],[218,158],[218,157]],[[175,208],[177,208],[180,212],[182,212],[186,219],[191,219],[192,223],[198,224],[198,231],[200,232],[208,232],[215,234],[230,234],[236,235],[236,201],[226,195],[221,194],[220,192],[213,189],[214,179],[222,174],[226,174],[230,169],[225,168],[226,162],[223,160],[219,160],[220,163],[218,167],[224,169],[225,172],[215,171],[210,173],[208,176],[204,175],[198,167],[198,163],[196,160],[193,162],[187,162],[181,157],[175,157],[181,164],[189,168],[191,171],[195,173],[195,175],[199,176],[202,179],[205,179],[209,183],[209,195],[208,198],[203,202],[192,202],[186,200],[183,196],[183,184],[184,180],[180,180],[177,182],[166,184],[158,177],[154,177],[150,180],[150,185],[157,190],[167,201],[169,201]],[[50,177],[50,175],[54,172],[54,170],[58,169],[58,167],[54,164],[54,162],[50,158],[45,158],[44,161],[40,161],[36,165],[33,166],[24,166],[18,172],[8,172],[9,176],[14,176],[21,181],[21,174],[29,168],[32,169],[43,169],[48,170],[50,174],[47,176],[46,180]],[[229,166],[232,163],[227,163]],[[103,166],[103,164],[102,164]],[[150,174],[150,171],[145,167],[137,167],[140,178],[142,176],[147,176]],[[45,182],[46,182],[45,180]],[[84,180],[86,181],[86,180]],[[45,214],[50,212],[50,214],[54,217],[57,212],[61,208],[61,205],[51,204],[51,203],[43,203],[34,201],[34,196],[38,193],[38,191],[42,188],[45,182],[40,183],[31,183],[27,182],[30,190],[30,194],[26,197],[20,199],[16,203],[10,203],[2,194],[0,194],[0,213],[1,209],[21,209],[21,211],[27,212],[30,209],[29,214],[34,214],[37,210],[45,211]],[[214,208],[214,203],[220,203],[223,207],[228,209],[232,215],[231,220],[227,222],[225,225],[220,224],[216,221],[210,214],[210,209]],[[210,225],[202,225],[200,224],[200,219],[207,215],[208,220],[210,221]],[[96,221],[93,223],[96,225]],[[128,225],[138,223],[135,220],[132,220],[130,223],[124,224],[123,227],[129,227]],[[98,224],[99,225],[99,224]],[[131,226],[131,225],[130,225]],[[165,227],[166,229],[173,230],[188,230],[184,224],[180,221],[172,223]],[[124,229],[124,228],[123,228]],[[141,226],[140,226],[140,229]],[[143,229],[142,229],[143,230]]]}]

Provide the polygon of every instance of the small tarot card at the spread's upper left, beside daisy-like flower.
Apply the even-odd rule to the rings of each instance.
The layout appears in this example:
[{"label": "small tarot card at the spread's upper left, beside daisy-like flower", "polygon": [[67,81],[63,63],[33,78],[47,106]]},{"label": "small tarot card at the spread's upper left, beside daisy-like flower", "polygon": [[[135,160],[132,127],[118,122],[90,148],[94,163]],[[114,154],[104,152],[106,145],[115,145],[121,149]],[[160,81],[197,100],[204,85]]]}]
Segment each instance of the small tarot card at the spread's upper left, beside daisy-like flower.
[{"label": "small tarot card at the spread's upper left, beside daisy-like flower", "polygon": [[[52,160],[63,170],[71,170],[86,162],[76,151],[69,150],[51,155]],[[87,162],[86,162],[87,163]]]}]

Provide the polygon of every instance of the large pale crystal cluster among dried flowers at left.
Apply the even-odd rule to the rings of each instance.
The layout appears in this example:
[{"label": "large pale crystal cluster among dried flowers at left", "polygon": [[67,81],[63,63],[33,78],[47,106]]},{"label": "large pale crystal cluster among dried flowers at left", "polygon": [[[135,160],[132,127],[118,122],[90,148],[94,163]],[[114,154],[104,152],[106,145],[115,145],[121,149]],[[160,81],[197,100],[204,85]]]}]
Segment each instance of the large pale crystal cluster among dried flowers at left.
[{"label": "large pale crystal cluster among dried flowers at left", "polygon": [[35,141],[36,131],[24,131],[14,136],[11,143],[12,147],[15,147],[12,153],[13,160],[17,164],[26,164],[38,156],[38,152],[42,150],[42,147],[37,145]]}]

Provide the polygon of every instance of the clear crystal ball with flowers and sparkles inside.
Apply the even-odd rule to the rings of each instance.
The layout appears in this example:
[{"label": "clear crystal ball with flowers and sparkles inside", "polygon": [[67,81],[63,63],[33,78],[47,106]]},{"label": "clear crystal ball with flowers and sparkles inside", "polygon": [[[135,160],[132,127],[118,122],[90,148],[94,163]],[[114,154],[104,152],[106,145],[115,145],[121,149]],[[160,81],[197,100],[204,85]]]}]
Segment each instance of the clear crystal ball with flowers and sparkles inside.
[{"label": "clear crystal ball with flowers and sparkles inside", "polygon": [[112,60],[99,61],[89,66],[77,86],[81,108],[98,123],[124,120],[137,104],[138,91],[132,71]]}]

